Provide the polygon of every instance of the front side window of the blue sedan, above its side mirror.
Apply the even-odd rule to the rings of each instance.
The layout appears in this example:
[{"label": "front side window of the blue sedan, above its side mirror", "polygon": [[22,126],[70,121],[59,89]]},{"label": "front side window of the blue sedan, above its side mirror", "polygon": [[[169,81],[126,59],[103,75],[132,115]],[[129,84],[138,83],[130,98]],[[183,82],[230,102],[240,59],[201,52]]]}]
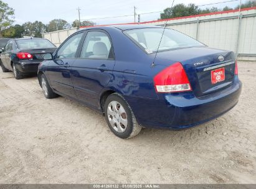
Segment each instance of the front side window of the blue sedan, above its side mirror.
[{"label": "front side window of the blue sedan, above its side mirror", "polygon": [[70,37],[58,50],[57,58],[75,58],[82,36],[83,33],[79,33]]}]

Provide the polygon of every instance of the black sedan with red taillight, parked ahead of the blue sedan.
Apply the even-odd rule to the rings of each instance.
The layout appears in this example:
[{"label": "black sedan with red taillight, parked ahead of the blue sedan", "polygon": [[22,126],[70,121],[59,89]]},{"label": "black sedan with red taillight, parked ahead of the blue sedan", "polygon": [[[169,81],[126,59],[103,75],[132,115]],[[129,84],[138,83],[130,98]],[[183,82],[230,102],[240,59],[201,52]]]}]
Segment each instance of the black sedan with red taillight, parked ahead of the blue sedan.
[{"label": "black sedan with red taillight, parked ahead of the blue sedan", "polygon": [[56,46],[47,39],[11,39],[1,53],[2,71],[13,71],[17,80],[26,75],[36,75],[45,53],[53,53]]}]

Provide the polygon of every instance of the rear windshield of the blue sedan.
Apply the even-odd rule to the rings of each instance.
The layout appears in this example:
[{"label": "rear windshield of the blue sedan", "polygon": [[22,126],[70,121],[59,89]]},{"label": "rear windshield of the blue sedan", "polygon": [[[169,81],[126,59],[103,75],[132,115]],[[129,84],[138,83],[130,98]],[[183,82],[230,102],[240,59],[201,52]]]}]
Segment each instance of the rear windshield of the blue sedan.
[{"label": "rear windshield of the blue sedan", "polygon": [[[164,32],[164,34],[163,34]],[[147,53],[154,53],[158,50],[172,50],[175,48],[205,46],[195,39],[173,29],[143,28],[132,29],[124,32],[133,42],[143,48]],[[163,38],[161,40],[161,37]],[[161,44],[159,45],[161,40]]]}]

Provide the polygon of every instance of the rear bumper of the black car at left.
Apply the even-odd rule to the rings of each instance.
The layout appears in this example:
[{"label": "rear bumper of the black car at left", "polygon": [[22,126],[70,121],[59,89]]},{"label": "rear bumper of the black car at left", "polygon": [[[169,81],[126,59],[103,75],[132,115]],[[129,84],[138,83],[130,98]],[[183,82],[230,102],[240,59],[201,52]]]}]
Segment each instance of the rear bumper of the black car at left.
[{"label": "rear bumper of the black car at left", "polygon": [[37,74],[38,66],[41,61],[22,60],[15,62],[16,69],[24,75]]}]

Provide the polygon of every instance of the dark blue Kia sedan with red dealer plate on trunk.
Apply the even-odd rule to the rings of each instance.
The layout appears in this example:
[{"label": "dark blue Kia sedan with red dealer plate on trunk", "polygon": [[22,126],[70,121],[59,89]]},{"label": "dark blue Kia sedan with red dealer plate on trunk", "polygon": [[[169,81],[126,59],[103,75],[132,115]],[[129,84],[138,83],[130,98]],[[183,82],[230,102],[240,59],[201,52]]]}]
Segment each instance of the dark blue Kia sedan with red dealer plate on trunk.
[{"label": "dark blue Kia sedan with red dealer plate on trunk", "polygon": [[79,30],[44,60],[38,78],[45,97],[103,113],[123,139],[141,127],[184,129],[215,119],[237,104],[242,89],[234,52],[163,27]]}]

